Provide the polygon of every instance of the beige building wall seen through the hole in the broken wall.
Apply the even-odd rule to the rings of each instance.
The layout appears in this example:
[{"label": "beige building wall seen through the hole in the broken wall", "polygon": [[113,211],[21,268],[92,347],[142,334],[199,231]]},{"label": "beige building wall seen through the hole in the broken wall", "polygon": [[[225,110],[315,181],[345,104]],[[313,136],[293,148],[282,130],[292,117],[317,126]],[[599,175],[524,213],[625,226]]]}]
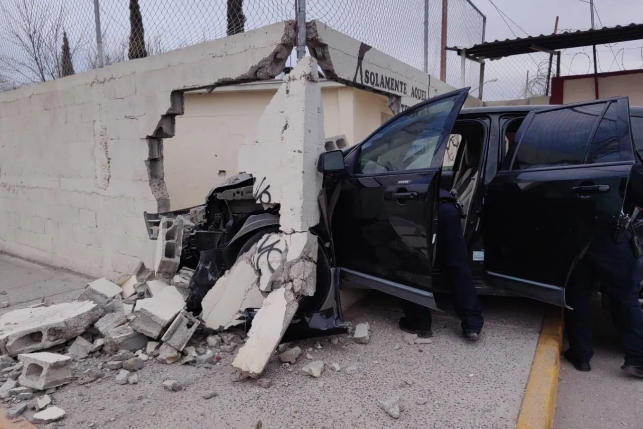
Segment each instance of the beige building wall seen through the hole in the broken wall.
[{"label": "beige building wall seen through the hole in the broken wall", "polygon": [[[253,82],[185,95],[176,135],[165,139],[163,148],[172,210],[203,204],[215,184],[239,173],[239,147],[255,130],[280,83]],[[349,144],[360,142],[392,116],[383,95],[337,82],[322,81],[321,97],[325,135],[345,134]]]}]

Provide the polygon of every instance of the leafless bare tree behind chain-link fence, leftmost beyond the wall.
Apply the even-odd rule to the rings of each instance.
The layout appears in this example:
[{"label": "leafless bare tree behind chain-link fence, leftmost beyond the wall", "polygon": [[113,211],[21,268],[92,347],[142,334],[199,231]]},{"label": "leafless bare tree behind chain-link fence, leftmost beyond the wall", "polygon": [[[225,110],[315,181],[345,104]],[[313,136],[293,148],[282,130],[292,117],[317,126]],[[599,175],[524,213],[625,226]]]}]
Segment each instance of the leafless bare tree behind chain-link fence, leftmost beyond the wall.
[{"label": "leafless bare tree behind chain-link fence, leftmost beyond the wall", "polygon": [[[0,57],[0,68],[19,82],[45,82],[62,75],[60,46],[66,10],[64,4],[52,6],[33,0],[0,1],[6,17],[6,43],[12,53]],[[73,54],[81,46],[80,37],[69,46]]]}]

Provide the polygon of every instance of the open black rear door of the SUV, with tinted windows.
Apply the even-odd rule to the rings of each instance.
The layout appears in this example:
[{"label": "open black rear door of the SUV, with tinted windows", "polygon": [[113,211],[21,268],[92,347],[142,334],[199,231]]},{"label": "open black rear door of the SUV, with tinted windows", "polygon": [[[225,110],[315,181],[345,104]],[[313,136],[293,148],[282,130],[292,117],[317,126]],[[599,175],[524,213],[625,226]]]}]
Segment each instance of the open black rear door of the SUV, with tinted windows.
[{"label": "open black rear door of the SUV, with tinted windows", "polygon": [[617,224],[633,160],[627,97],[529,113],[485,190],[488,283],[565,307],[592,232]]}]

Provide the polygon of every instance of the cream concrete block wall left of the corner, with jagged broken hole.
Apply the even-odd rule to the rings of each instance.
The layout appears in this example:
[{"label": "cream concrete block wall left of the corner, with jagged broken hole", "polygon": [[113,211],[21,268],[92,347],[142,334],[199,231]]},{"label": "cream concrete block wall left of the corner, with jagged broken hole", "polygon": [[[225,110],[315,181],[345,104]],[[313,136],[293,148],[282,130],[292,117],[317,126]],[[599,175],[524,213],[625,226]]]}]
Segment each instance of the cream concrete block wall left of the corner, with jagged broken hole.
[{"label": "cream concrete block wall left of the corner, with jagged broken hole", "polygon": [[[0,93],[0,251],[92,276],[152,265],[184,90],[270,79],[292,23]],[[198,156],[198,155],[195,155]]]}]

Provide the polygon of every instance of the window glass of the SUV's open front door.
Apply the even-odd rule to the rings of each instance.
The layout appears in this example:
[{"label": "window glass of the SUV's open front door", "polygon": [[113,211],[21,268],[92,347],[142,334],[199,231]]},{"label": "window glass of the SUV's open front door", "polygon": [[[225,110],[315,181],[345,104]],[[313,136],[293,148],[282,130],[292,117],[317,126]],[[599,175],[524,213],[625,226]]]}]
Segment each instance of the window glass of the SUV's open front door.
[{"label": "window glass of the SUV's open front door", "polygon": [[403,115],[380,129],[362,146],[356,174],[423,169],[431,166],[454,95]]}]

